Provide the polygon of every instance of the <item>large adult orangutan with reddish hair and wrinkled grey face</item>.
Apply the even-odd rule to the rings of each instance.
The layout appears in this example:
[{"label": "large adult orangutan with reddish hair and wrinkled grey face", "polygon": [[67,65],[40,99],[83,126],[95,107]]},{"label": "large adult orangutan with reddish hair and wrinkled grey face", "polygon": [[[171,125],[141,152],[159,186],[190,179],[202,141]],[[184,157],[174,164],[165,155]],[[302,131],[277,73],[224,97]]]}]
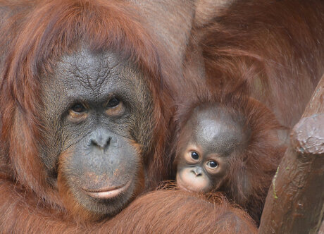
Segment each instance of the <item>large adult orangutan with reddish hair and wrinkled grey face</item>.
[{"label": "large adult orangutan with reddish hair and wrinkled grey face", "polygon": [[0,6],[1,233],[254,233],[249,216],[223,199],[135,198],[168,178],[171,102],[161,80],[173,74],[161,71],[166,59],[136,8]]}]

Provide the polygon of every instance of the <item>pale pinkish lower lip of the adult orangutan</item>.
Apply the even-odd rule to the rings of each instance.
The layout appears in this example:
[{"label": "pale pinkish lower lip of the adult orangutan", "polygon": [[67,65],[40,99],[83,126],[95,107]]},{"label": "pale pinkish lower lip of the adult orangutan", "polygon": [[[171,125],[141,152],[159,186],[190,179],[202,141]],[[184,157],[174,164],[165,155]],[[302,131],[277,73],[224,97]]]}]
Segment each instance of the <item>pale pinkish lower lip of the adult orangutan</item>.
[{"label": "pale pinkish lower lip of the adult orangutan", "polygon": [[125,185],[120,187],[101,187],[98,190],[85,190],[85,193],[89,195],[90,197],[99,198],[99,199],[111,199],[113,197],[117,197],[121,193],[125,192],[128,187],[130,187],[130,184],[132,183],[132,180],[128,181]]}]

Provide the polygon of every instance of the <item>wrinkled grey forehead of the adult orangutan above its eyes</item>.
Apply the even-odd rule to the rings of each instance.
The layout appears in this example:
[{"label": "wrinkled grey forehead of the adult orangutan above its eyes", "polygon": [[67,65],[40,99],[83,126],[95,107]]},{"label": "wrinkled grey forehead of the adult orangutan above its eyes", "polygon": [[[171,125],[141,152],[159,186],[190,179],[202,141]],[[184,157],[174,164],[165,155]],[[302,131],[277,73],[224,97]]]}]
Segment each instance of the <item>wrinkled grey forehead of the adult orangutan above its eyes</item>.
[{"label": "wrinkled grey forehead of the adult orangutan above its eyes", "polygon": [[[136,97],[131,93],[147,92],[142,73],[116,53],[94,53],[80,49],[63,56],[56,73],[47,81],[60,86],[67,96],[86,95],[94,99],[107,99],[112,94]],[[95,101],[95,100],[94,100]]]}]

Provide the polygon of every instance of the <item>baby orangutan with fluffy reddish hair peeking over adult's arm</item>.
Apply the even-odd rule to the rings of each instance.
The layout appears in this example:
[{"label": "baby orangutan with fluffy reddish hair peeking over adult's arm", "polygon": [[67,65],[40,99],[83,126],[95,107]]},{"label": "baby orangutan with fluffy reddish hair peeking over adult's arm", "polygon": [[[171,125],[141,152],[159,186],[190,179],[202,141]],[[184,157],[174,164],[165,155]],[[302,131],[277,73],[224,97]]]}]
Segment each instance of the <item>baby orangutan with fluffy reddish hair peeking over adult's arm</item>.
[{"label": "baby orangutan with fluffy reddish hair peeking over adult's arm", "polygon": [[224,192],[258,222],[285,149],[275,116],[255,99],[213,97],[179,106],[176,121],[178,187]]}]

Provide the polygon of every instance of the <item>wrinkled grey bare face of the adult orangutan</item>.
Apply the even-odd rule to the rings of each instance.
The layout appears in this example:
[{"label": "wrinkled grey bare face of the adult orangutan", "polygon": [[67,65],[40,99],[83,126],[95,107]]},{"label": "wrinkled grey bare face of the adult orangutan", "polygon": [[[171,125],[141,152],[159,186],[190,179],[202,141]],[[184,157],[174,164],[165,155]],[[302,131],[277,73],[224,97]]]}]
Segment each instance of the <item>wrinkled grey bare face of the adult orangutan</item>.
[{"label": "wrinkled grey bare face of the adult orangutan", "polygon": [[151,119],[141,117],[153,110],[143,75],[117,54],[82,48],[43,78],[42,91],[49,183],[62,173],[87,211],[116,214],[142,185],[143,159],[132,142],[145,148],[152,134]]}]

